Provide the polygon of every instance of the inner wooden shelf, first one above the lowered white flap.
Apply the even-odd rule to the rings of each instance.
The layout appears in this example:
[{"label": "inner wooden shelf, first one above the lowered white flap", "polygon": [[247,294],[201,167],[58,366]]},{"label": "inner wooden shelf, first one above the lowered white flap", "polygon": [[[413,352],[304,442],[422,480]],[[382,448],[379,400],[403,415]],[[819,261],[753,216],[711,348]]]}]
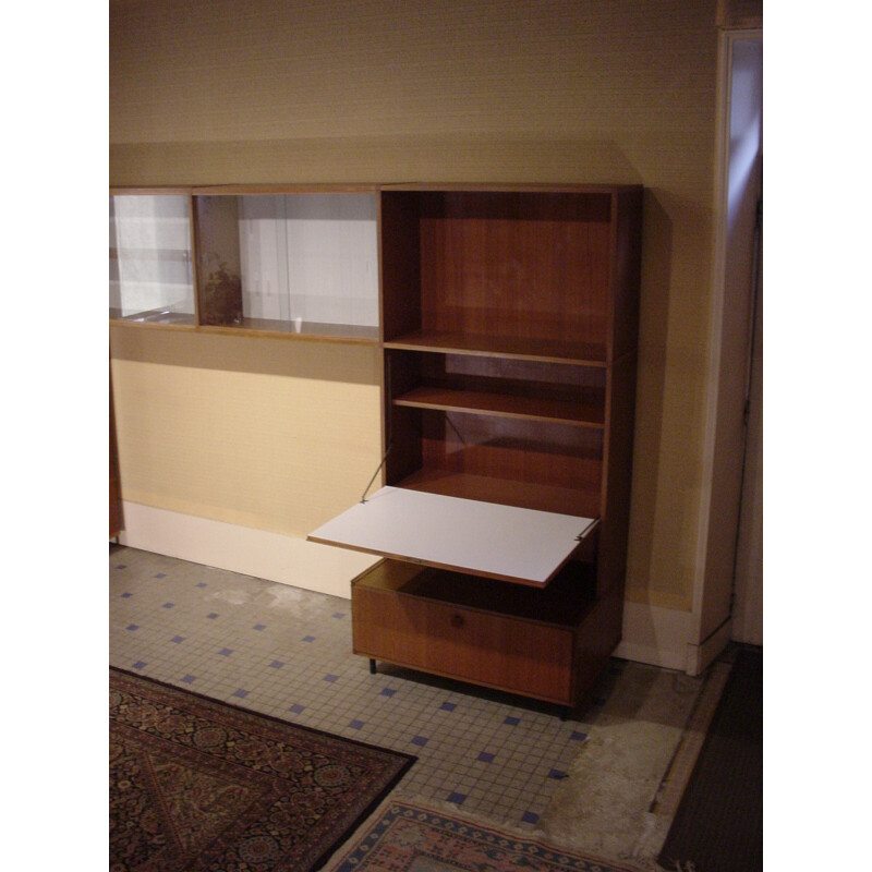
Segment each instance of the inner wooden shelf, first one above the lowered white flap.
[{"label": "inner wooden shelf, first one above the lowered white flap", "polygon": [[600,429],[603,428],[605,420],[605,411],[602,408],[581,405],[566,400],[426,386],[416,387],[395,398],[393,403],[420,409],[549,421]]}]

